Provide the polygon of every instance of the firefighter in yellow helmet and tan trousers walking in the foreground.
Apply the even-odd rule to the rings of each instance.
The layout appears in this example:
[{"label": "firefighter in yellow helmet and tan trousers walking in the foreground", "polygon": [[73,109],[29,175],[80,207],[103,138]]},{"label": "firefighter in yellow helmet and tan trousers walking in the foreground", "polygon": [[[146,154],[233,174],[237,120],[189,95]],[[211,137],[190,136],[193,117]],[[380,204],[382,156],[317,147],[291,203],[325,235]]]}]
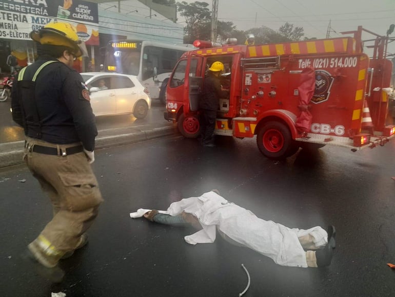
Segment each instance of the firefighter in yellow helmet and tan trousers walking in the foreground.
[{"label": "firefighter in yellow helmet and tan trousers walking in the foreground", "polygon": [[26,256],[54,282],[61,258],[87,243],[87,229],[103,201],[91,163],[97,135],[89,91],[72,69],[82,55],[75,28],[49,23],[30,33],[39,57],[19,71],[12,118],[25,130],[24,160],[45,194],[53,218],[28,245]]}]

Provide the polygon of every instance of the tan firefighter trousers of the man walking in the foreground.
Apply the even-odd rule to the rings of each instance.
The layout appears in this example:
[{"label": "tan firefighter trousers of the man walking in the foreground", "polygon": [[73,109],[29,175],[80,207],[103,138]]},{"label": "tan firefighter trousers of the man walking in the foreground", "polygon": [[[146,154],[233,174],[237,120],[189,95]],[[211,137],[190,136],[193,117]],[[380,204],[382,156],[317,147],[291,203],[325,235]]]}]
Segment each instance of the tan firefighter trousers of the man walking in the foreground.
[{"label": "tan firefighter trousers of the man walking in the foreground", "polygon": [[[58,155],[36,153],[34,145],[55,147]],[[58,258],[74,250],[80,243],[81,234],[92,225],[103,201],[85,153],[67,155],[67,148],[77,145],[81,143],[56,145],[26,139],[24,160],[53,206],[52,220],[34,240],[48,257],[56,255]]]}]

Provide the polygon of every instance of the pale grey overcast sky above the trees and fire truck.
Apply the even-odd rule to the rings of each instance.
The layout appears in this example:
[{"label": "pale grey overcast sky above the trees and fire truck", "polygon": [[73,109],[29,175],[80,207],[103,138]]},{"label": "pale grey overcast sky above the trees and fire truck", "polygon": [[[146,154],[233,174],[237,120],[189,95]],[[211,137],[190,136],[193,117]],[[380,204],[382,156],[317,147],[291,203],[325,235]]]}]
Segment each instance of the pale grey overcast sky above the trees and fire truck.
[{"label": "pale grey overcast sky above the trees and fire truck", "polygon": [[[211,10],[212,0],[204,2]],[[131,5],[130,8],[143,6],[137,0],[122,3]],[[101,6],[105,8],[106,5]],[[148,15],[149,10],[145,12],[141,8],[139,13]],[[356,30],[359,25],[385,35],[389,25],[395,24],[395,0],[219,0],[218,18],[233,22],[240,30],[261,26],[277,30],[288,22],[303,27],[309,38],[325,38],[330,20],[331,37],[341,36],[342,31]],[[179,21],[182,21],[180,15]],[[363,36],[364,39],[373,37]],[[388,51],[395,53],[395,42],[390,44]]]}]

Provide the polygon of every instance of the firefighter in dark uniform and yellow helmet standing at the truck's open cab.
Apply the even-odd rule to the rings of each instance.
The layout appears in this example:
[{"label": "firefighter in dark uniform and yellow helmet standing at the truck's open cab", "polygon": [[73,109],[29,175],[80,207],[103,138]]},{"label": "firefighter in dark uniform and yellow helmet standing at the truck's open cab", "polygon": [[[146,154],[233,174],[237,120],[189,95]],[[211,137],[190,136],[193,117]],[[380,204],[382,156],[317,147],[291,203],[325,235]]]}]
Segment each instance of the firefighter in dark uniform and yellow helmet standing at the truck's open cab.
[{"label": "firefighter in dark uniform and yellow helmet standing at the truck's open cab", "polygon": [[209,74],[204,79],[203,94],[199,102],[201,137],[204,146],[215,146],[213,134],[216,112],[220,107],[220,98],[228,98],[229,92],[222,89],[220,82],[224,64],[216,61],[208,70]]}]

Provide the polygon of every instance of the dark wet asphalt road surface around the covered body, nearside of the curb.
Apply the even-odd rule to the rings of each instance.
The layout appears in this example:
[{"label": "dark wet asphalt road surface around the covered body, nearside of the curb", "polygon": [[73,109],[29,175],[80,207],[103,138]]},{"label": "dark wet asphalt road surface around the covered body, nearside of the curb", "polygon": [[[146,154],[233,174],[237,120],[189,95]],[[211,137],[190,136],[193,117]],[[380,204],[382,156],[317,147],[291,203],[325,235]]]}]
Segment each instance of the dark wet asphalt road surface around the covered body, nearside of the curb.
[{"label": "dark wet asphalt road surface around the covered body, nearside of the curb", "polygon": [[[89,244],[62,262],[61,284],[41,279],[19,254],[51,217],[48,199],[24,166],[0,171],[0,295],[50,296],[393,296],[395,143],[351,153],[324,147],[286,161],[260,155],[254,139],[220,138],[214,148],[168,137],[95,153],[105,198]],[[25,182],[18,180],[26,179]],[[190,246],[189,229],[131,219],[211,189],[258,217],[307,229],[333,224],[337,248],[327,268],[281,267],[259,253]]]}]

